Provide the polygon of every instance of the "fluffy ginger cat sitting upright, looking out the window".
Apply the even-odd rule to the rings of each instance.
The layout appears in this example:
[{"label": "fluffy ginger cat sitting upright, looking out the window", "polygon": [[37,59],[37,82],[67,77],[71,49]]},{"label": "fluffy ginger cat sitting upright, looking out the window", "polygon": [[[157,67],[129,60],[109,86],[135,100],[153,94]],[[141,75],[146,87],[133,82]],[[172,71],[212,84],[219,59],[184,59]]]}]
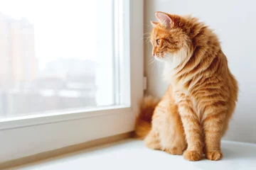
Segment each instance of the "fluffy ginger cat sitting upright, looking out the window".
[{"label": "fluffy ginger cat sitting upright, looking out the window", "polygon": [[218,37],[191,16],[156,12],[156,18],[159,22],[151,22],[152,55],[165,63],[170,86],[160,102],[144,98],[135,133],[145,137],[147,147],[183,154],[189,161],[200,160],[203,153],[219,160],[238,83]]}]

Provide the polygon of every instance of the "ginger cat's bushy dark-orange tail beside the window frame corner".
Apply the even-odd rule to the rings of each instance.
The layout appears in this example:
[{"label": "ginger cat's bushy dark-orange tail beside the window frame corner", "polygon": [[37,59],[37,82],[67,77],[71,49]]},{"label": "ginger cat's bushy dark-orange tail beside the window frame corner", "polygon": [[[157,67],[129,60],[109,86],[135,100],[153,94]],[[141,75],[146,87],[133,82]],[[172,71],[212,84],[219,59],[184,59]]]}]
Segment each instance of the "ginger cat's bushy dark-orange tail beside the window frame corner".
[{"label": "ginger cat's bushy dark-orange tail beside the window frame corner", "polygon": [[145,96],[139,103],[139,114],[135,123],[134,137],[144,139],[149,133],[154,108],[158,103],[159,99],[152,96]]}]

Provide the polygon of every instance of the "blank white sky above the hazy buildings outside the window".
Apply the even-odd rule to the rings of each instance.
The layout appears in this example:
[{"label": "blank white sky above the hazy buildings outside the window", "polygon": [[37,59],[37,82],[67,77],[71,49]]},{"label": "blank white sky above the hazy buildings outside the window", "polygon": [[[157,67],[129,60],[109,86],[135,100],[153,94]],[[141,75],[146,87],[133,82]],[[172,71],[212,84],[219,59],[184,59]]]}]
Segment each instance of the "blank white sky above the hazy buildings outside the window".
[{"label": "blank white sky above the hazy buildings outside the window", "polygon": [[0,12],[34,25],[41,69],[60,57],[96,60],[97,1],[0,0]]}]

